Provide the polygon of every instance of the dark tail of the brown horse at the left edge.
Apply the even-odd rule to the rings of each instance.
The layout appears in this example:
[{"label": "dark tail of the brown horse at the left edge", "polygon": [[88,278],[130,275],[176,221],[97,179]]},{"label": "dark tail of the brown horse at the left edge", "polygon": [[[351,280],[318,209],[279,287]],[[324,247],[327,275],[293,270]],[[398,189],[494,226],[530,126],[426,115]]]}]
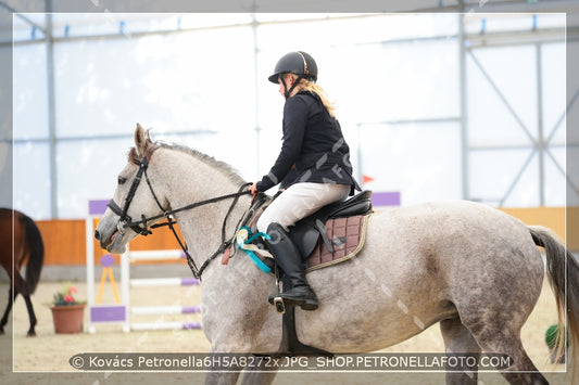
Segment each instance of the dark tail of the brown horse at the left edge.
[{"label": "dark tail of the brown horse at the left edge", "polygon": [[24,228],[25,241],[28,246],[28,264],[26,264],[26,284],[21,287],[22,294],[30,295],[35,292],[38,281],[40,280],[40,271],[45,261],[45,243],[40,230],[28,216],[20,213],[20,221]]}]

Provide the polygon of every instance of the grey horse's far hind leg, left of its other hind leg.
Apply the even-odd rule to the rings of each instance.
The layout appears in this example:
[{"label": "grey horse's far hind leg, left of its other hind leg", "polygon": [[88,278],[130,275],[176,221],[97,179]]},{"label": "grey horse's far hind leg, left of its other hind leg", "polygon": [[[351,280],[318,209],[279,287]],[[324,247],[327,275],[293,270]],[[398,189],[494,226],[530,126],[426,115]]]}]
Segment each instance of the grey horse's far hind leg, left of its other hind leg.
[{"label": "grey horse's far hind leg, left of its other hind leg", "polygon": [[[466,329],[458,318],[440,322],[440,331],[446,347],[446,354],[468,354],[477,361],[480,357],[480,346],[478,346],[473,334]],[[478,383],[478,368],[475,367],[452,367],[446,364],[446,384],[474,384]]]}]

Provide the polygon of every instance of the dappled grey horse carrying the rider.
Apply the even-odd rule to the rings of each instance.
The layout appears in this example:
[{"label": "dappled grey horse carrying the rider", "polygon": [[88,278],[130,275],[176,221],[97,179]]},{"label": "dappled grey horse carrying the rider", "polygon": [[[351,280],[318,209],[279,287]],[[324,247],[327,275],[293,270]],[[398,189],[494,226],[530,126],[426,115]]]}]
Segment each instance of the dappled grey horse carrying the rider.
[{"label": "dappled grey horse carrying the rider", "polygon": [[[235,234],[250,205],[249,195],[234,194],[244,183],[210,156],[151,142],[137,125],[135,147],[96,231],[103,248],[123,253],[163,211],[188,206],[175,218],[197,267],[204,269],[202,320],[212,352],[275,352],[280,346],[281,317],[267,303],[275,291],[273,277],[239,252],[228,265],[221,264],[224,234]],[[232,197],[219,198],[232,195],[236,204]],[[577,341],[579,267],[570,253],[546,229],[470,202],[374,213],[357,257],[309,273],[320,305],[315,311],[295,309],[298,337],[330,352],[366,352],[440,322],[446,351],[506,354],[514,359],[502,372],[508,382],[546,383],[520,341],[543,283],[544,265],[536,245],[545,248],[559,320],[567,315],[567,330]],[[212,254],[217,258],[209,259]],[[236,383],[238,376],[209,372],[206,382]],[[251,371],[243,380],[270,383],[274,376],[272,371]],[[476,384],[477,372],[465,368],[448,372],[446,380]]]}]

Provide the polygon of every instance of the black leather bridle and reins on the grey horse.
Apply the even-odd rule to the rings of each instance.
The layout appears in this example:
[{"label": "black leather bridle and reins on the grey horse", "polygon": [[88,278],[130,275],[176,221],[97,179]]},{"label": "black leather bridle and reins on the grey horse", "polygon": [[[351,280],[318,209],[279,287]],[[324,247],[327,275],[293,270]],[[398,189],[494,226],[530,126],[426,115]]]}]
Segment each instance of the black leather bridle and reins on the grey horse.
[{"label": "black leather bridle and reins on the grey horse", "polygon": [[[173,234],[175,235],[175,239],[179,243],[179,246],[181,247],[182,252],[187,256],[187,264],[189,265],[189,268],[191,269],[191,272],[193,273],[193,277],[197,278],[197,279],[201,279],[201,274],[203,273],[203,270],[207,267],[207,265],[213,259],[215,259],[215,257],[217,257],[219,254],[224,253],[227,249],[227,247],[231,244],[231,242],[234,241],[235,234],[232,236],[230,236],[230,238],[227,238],[226,233],[225,233],[226,232],[226,227],[227,227],[227,219],[229,218],[229,215],[234,210],[235,206],[237,205],[237,203],[239,201],[239,197],[241,195],[251,194],[251,192],[249,190],[247,190],[248,185],[250,185],[251,183],[244,183],[243,185],[241,185],[237,193],[212,197],[210,200],[196,202],[196,203],[192,203],[190,205],[187,205],[187,206],[184,206],[184,207],[179,207],[179,208],[175,208],[175,209],[166,209],[166,208],[164,208],[161,205],[161,202],[159,202],[159,198],[158,198],[158,196],[156,196],[156,194],[155,194],[155,192],[153,190],[153,187],[151,184],[151,181],[149,180],[149,177],[147,175],[147,168],[149,167],[149,158],[147,156],[144,156],[140,162],[138,162],[138,161],[134,161],[134,162],[135,162],[136,165],[139,166],[139,170],[137,171],[137,176],[135,177],[135,179],[133,180],[133,183],[130,184],[127,197],[125,200],[125,205],[123,206],[123,208],[121,208],[114,202],[114,200],[109,201],[109,204],[108,204],[108,207],[111,208],[111,210],[119,217],[118,221],[116,223],[116,229],[118,230],[118,233],[121,235],[123,235],[125,233],[125,229],[126,228],[130,228],[137,234],[147,236],[149,234],[152,234],[152,230],[151,229],[156,229],[156,228],[160,228],[160,227],[163,227],[163,226],[168,226],[168,228],[173,231]],[[144,175],[144,180],[147,181],[147,185],[149,185],[149,191],[153,195],[153,197],[154,197],[154,200],[156,202],[156,205],[159,206],[159,208],[161,209],[161,211],[163,214],[155,215],[155,216],[152,216],[152,217],[146,217],[143,214],[141,214],[141,219],[134,221],[133,218],[127,214],[127,211],[128,211],[128,208],[130,206],[130,203],[133,202],[133,198],[135,197],[135,192],[137,191],[137,188],[139,187],[139,183],[141,182],[141,179],[142,179],[143,175]],[[227,210],[227,214],[225,215],[225,218],[223,219],[222,244],[217,248],[217,251],[215,251],[215,253],[213,253],[203,262],[203,265],[201,265],[201,267],[198,268],[197,264],[194,262],[193,258],[191,257],[191,255],[188,252],[187,245],[179,239],[179,236],[177,235],[177,232],[175,231],[175,227],[173,226],[174,223],[176,223],[175,218],[174,218],[174,214],[177,214],[177,213],[180,213],[180,211],[185,211],[185,210],[189,210],[189,209],[193,209],[196,207],[204,206],[204,205],[207,205],[207,204],[211,204],[211,203],[216,203],[216,202],[219,202],[219,201],[230,200],[230,198],[232,198],[234,201],[231,202],[231,205],[229,206],[229,209]],[[162,223],[154,223],[154,224],[151,224],[151,226],[147,224],[148,222],[151,222],[151,221],[154,221],[154,220],[158,220],[158,219],[161,219],[161,218],[165,218],[167,221],[166,222],[162,222]]]}]

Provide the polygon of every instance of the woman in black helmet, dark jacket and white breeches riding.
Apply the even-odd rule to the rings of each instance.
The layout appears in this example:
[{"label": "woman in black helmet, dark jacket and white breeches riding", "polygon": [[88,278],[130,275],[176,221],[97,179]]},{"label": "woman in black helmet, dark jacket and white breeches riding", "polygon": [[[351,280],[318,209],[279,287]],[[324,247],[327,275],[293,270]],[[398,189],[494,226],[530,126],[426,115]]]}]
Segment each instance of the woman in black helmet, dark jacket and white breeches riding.
[{"label": "woman in black helmet, dark jacket and white breeches riding", "polygon": [[274,304],[279,296],[286,306],[315,310],[317,297],[305,280],[302,256],[288,236],[288,228],[323,206],[345,200],[360,187],[352,177],[350,147],[335,107],[315,84],[314,59],[303,51],[290,52],[277,62],[268,80],[279,84],[279,93],[286,99],[281,151],[269,172],[249,190],[253,195],[265,192],[288,178],[292,167],[295,169],[294,180],[284,181],[289,187],[257,221],[257,230],[270,236],[265,242],[289,282],[284,293],[274,293],[268,300]]}]

